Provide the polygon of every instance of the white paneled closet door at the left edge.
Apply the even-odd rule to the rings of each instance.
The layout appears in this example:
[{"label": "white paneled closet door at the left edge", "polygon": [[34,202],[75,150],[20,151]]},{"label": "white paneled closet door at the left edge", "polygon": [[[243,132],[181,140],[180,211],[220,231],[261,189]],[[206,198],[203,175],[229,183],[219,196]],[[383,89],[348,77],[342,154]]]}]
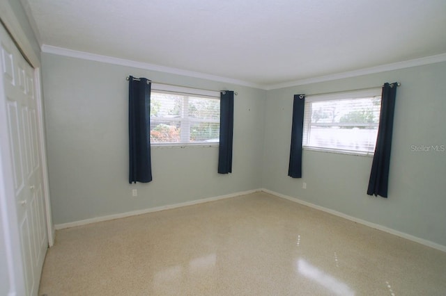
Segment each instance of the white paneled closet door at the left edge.
[{"label": "white paneled closet door at the left edge", "polygon": [[[37,295],[48,238],[34,69],[0,26],[1,79],[26,295]],[[3,146],[4,147],[4,146]]]}]

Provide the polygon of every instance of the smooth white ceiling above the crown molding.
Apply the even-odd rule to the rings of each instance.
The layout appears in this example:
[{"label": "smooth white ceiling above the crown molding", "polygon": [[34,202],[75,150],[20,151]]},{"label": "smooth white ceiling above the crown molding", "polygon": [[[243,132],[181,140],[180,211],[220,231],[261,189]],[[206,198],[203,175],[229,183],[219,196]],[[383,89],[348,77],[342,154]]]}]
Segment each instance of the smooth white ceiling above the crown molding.
[{"label": "smooth white ceiling above the crown molding", "polygon": [[41,45],[278,85],[446,53],[445,0],[22,0]]}]

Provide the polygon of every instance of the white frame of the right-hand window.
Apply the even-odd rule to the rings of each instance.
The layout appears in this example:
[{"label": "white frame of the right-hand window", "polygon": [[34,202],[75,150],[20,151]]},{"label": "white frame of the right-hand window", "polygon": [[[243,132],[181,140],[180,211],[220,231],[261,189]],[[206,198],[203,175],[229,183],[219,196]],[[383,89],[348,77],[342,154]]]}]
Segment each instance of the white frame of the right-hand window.
[{"label": "white frame of the right-hand window", "polygon": [[[302,134],[302,149],[309,151],[321,151],[334,154],[348,154],[354,156],[374,156],[374,151],[360,151],[351,149],[337,149],[332,147],[315,147],[308,144],[309,136],[311,133],[311,109],[309,110],[309,105],[318,101],[339,101],[345,99],[364,99],[367,97],[380,97],[382,95],[381,88],[370,88],[367,90],[353,90],[348,92],[332,92],[325,94],[315,94],[305,97],[305,115],[304,115],[304,126]],[[380,109],[380,107],[379,107]],[[369,126],[379,126],[379,115],[378,122],[374,124],[369,124]]]}]

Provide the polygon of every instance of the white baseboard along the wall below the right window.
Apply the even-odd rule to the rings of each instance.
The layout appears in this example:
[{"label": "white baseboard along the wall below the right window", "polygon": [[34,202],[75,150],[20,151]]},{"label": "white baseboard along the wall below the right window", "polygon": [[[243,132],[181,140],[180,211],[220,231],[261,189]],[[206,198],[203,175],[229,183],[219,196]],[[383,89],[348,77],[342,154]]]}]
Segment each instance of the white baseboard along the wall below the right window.
[{"label": "white baseboard along the wall below the right window", "polygon": [[270,195],[275,195],[277,197],[281,197],[283,199],[288,199],[291,202],[296,202],[298,204],[303,204],[304,206],[309,206],[310,208],[316,208],[316,210],[320,210],[320,211],[323,211],[323,212],[326,212],[326,213],[330,213],[330,214],[336,215],[338,217],[343,217],[344,219],[351,220],[353,222],[357,222],[359,224],[363,224],[365,226],[368,226],[368,227],[371,227],[371,228],[374,228],[374,229],[378,229],[380,231],[384,231],[384,232],[393,234],[394,236],[399,236],[401,238],[406,238],[407,240],[412,240],[413,242],[418,242],[418,243],[420,243],[422,245],[425,245],[427,247],[431,247],[433,249],[438,249],[440,251],[446,252],[446,246],[440,245],[440,244],[438,244],[436,242],[431,242],[430,240],[424,240],[423,238],[417,238],[416,236],[411,236],[408,233],[404,233],[404,232],[401,232],[401,231],[397,231],[395,229],[384,227],[384,226],[382,226],[380,224],[375,224],[375,223],[372,223],[372,222],[368,222],[366,220],[362,220],[362,219],[359,219],[357,217],[352,217],[350,215],[346,215],[344,213],[341,213],[341,212],[338,212],[338,211],[334,211],[334,210],[332,210],[330,208],[325,208],[323,206],[318,206],[318,205],[312,204],[310,202],[305,202],[305,201],[303,201],[301,199],[298,199],[298,198],[295,198],[295,197],[290,197],[288,195],[282,195],[282,194],[280,194],[278,192],[275,192],[275,191],[272,191],[272,190],[268,190],[268,189],[262,188],[261,191],[269,193]]}]

